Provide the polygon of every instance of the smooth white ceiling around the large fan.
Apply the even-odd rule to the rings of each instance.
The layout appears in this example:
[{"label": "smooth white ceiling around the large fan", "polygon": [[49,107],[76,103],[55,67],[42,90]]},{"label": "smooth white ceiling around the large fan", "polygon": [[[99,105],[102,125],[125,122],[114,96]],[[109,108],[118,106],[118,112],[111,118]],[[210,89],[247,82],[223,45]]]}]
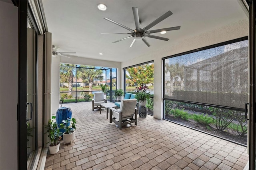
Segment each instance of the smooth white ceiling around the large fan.
[{"label": "smooth white ceiling around the large fan", "polygon": [[[98,10],[99,3],[106,4],[107,10]],[[150,47],[143,41],[136,41],[129,48],[133,38],[112,43],[129,35],[100,34],[129,32],[104,20],[104,17],[135,29],[133,6],[138,8],[142,28],[168,10],[173,14],[150,30],[174,26],[181,28],[166,34],[152,34],[170,40],[166,42],[146,38]],[[237,0],[43,0],[43,7],[48,30],[52,32],[52,44],[60,47],[59,52],[75,51],[75,55],[79,57],[117,62],[136,58],[238,20],[248,19]],[[99,55],[100,52],[103,55]]]}]

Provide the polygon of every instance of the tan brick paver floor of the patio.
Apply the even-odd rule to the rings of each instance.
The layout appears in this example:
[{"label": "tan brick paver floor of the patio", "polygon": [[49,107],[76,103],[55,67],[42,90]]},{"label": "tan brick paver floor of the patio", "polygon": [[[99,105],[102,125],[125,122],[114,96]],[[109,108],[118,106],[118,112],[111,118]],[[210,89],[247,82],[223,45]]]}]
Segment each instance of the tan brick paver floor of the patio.
[{"label": "tan brick paver floor of the patio", "polygon": [[46,158],[45,170],[243,170],[247,148],[147,115],[119,130],[91,102],[63,104],[77,130],[73,144]]}]

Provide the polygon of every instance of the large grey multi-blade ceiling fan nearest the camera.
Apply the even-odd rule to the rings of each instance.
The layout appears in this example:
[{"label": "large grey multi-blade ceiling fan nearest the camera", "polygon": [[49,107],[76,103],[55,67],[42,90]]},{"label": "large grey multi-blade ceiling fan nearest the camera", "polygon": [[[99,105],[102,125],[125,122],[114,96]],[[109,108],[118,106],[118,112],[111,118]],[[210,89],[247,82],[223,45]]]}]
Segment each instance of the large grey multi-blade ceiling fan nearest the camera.
[{"label": "large grey multi-blade ceiling fan nearest the camera", "polygon": [[132,30],[131,28],[128,28],[122,24],[119,24],[118,22],[115,22],[113,20],[110,20],[109,18],[104,18],[105,20],[108,20],[118,26],[121,26],[123,28],[125,28],[126,30],[129,30],[131,33],[101,33],[101,34],[128,34],[130,36],[126,37],[126,38],[122,38],[120,40],[117,40],[113,43],[125,40],[127,38],[134,38],[134,40],[132,41],[132,44],[130,45],[130,47],[133,46],[133,44],[136,42],[136,40],[142,40],[143,42],[145,42],[145,44],[147,44],[147,46],[149,47],[150,44],[148,43],[148,40],[146,40],[145,37],[148,38],[156,38],[158,40],[164,40],[164,41],[168,41],[168,38],[164,38],[164,37],[160,37],[160,36],[154,36],[154,35],[150,35],[152,33],[156,33],[156,32],[163,32],[163,31],[171,31],[171,30],[179,30],[180,26],[175,26],[175,27],[170,27],[170,28],[162,28],[162,29],[157,29],[157,30],[149,30],[150,28],[152,28],[153,26],[155,26],[156,24],[158,24],[159,22],[161,22],[162,20],[168,18],[169,16],[172,15],[172,12],[168,11],[166,12],[164,15],[160,16],[159,18],[157,18],[156,20],[154,20],[152,23],[148,24],[148,26],[144,27],[143,29],[140,28],[140,18],[139,18],[139,13],[138,13],[138,8],[137,7],[132,7],[132,12],[133,12],[133,16],[134,16],[134,21],[135,21],[135,30]]}]

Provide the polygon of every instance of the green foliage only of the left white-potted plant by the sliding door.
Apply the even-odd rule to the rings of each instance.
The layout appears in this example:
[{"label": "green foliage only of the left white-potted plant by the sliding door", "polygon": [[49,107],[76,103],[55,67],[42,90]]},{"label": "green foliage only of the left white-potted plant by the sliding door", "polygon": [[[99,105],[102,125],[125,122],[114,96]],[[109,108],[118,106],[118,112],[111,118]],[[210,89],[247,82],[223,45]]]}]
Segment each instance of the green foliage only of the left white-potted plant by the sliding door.
[{"label": "green foliage only of the left white-potted plant by the sliding door", "polygon": [[48,133],[48,137],[50,138],[50,146],[58,145],[58,142],[61,138],[60,135],[62,135],[58,124],[53,119],[50,119],[48,121],[48,125],[46,125],[45,128],[47,129],[46,133]]}]

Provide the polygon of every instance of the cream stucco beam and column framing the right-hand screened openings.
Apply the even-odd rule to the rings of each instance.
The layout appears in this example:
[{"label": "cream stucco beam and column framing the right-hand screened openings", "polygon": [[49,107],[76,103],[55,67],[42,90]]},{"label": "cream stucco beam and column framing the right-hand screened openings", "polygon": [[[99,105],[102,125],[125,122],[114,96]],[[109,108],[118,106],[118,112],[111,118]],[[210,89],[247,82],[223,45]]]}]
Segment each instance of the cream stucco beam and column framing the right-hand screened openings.
[{"label": "cream stucco beam and column framing the right-hand screened openings", "polygon": [[[143,54],[126,62],[122,62],[121,68],[132,66],[135,64],[154,60],[154,117],[158,119],[163,118],[163,94],[162,94],[162,58],[202,48],[212,44],[233,40],[236,38],[248,36],[249,34],[249,19],[240,20],[238,22],[222,26],[220,28],[201,33],[197,36],[180,40],[178,42],[172,42],[169,46],[164,46],[156,51],[149,51],[147,54]],[[171,40],[169,40],[171,41]],[[153,46],[154,44],[152,44]],[[122,73],[123,80],[124,74]],[[122,82],[124,86],[124,82]]]}]

